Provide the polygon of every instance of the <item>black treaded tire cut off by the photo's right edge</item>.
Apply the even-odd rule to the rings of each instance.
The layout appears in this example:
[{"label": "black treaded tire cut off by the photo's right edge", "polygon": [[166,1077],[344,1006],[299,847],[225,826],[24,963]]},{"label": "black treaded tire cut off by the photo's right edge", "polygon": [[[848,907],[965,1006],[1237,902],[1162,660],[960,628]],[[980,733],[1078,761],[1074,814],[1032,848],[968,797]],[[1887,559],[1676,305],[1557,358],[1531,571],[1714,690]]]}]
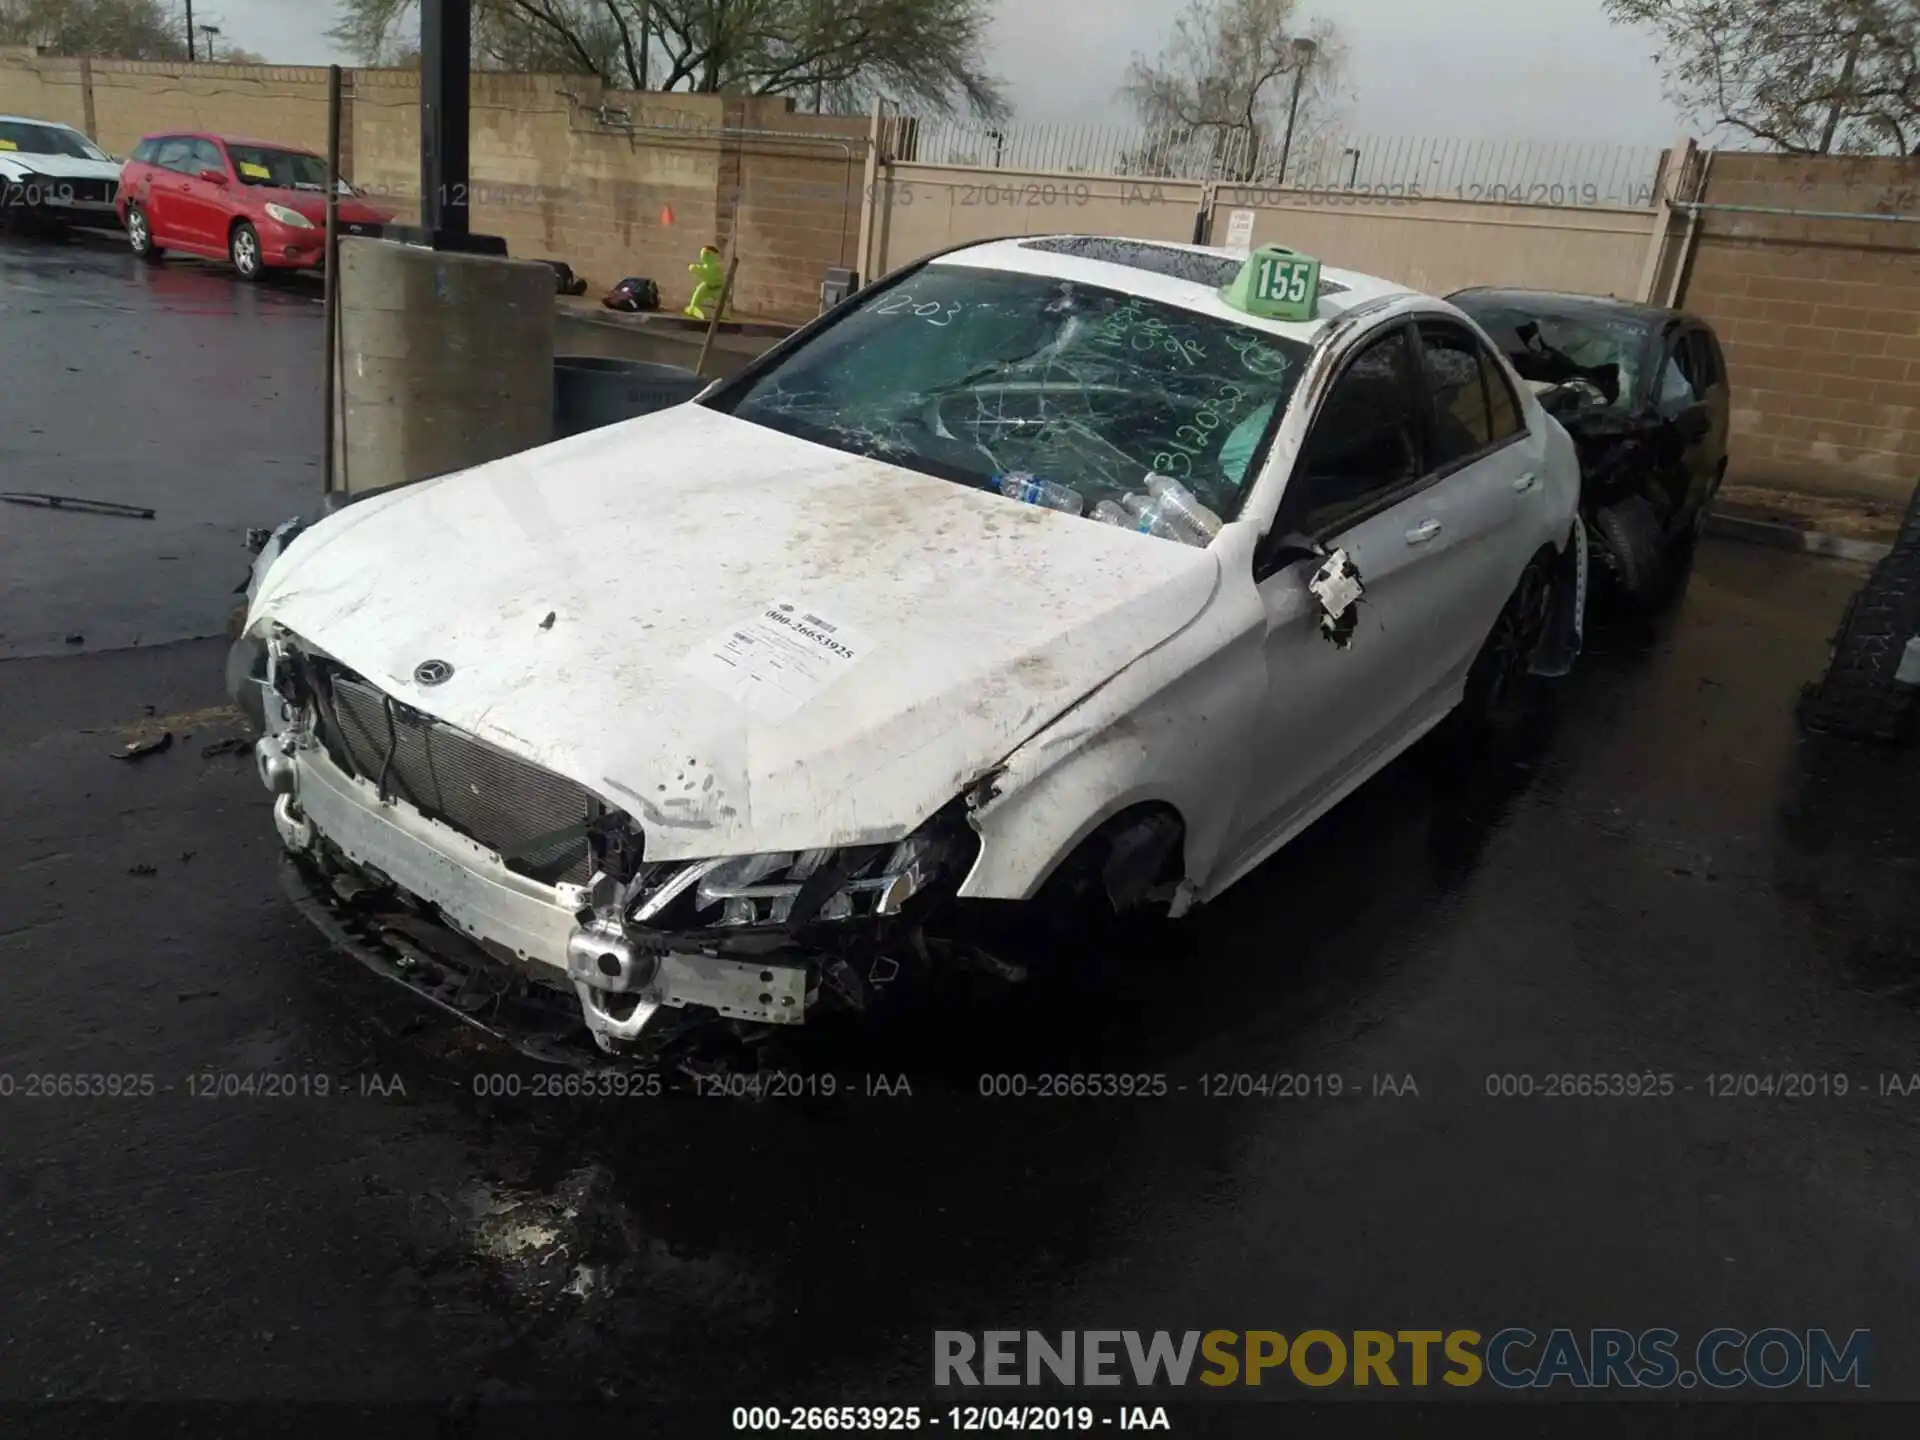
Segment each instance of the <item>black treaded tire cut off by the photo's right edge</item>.
[{"label": "black treaded tire cut off by the photo's right edge", "polygon": [[1908,743],[1916,730],[1916,689],[1895,682],[1907,641],[1920,634],[1920,488],[1893,551],[1847,601],[1834,634],[1826,674],[1801,693],[1807,730],[1849,739]]}]

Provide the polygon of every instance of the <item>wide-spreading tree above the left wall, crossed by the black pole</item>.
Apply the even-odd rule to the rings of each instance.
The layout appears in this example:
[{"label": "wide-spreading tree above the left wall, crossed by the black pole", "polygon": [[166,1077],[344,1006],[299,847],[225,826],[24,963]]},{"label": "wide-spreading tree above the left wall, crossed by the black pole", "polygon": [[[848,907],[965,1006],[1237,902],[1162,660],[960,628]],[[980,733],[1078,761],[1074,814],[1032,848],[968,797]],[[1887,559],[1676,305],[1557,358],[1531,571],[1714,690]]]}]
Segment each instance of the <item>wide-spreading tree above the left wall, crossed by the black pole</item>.
[{"label": "wide-spreading tree above the left wall, crossed by the black pole", "polygon": [[[397,60],[419,0],[340,0],[332,35]],[[991,0],[474,0],[474,63],[630,90],[795,94],[1004,115],[981,52]]]}]

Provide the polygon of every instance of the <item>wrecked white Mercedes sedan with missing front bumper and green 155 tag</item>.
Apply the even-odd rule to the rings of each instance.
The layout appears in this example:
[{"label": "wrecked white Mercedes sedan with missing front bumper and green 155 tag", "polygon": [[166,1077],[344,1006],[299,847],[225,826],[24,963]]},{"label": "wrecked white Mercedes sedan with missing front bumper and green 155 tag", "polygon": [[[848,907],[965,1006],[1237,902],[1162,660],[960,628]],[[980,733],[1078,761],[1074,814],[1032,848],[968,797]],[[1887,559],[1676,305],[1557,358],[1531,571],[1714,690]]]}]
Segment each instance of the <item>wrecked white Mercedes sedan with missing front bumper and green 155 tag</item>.
[{"label": "wrecked white Mercedes sedan with missing front bumper and green 155 tag", "polygon": [[282,530],[230,674],[340,943],[622,1052],[979,964],[975,900],[1212,900],[1565,672],[1576,501],[1440,300],[996,240],[691,403]]}]

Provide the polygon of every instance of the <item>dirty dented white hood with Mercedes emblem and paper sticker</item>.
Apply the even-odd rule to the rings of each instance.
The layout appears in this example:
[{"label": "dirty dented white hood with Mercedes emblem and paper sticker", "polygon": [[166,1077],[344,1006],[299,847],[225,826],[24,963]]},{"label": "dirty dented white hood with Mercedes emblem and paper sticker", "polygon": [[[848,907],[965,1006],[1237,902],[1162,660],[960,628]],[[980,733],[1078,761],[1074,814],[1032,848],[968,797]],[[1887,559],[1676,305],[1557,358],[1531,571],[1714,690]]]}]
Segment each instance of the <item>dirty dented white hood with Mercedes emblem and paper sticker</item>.
[{"label": "dirty dented white hood with Mercedes emblem and paper sticker", "polygon": [[250,626],[693,858],[904,835],[1215,582],[1204,549],[680,405],[340,511]]}]

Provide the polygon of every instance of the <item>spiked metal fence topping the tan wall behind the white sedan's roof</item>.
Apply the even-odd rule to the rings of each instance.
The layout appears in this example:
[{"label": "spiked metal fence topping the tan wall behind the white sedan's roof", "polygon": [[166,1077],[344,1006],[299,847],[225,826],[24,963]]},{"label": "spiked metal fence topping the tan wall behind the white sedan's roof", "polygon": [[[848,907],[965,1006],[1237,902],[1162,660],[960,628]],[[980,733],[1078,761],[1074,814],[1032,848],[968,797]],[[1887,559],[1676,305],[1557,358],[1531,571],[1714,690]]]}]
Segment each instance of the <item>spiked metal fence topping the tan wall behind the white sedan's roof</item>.
[{"label": "spiked metal fence topping the tan wall behind the white sedan's roof", "polygon": [[1523,205],[1651,207],[1659,146],[1296,134],[1140,125],[906,121],[899,159],[925,165],[1137,175]]}]

